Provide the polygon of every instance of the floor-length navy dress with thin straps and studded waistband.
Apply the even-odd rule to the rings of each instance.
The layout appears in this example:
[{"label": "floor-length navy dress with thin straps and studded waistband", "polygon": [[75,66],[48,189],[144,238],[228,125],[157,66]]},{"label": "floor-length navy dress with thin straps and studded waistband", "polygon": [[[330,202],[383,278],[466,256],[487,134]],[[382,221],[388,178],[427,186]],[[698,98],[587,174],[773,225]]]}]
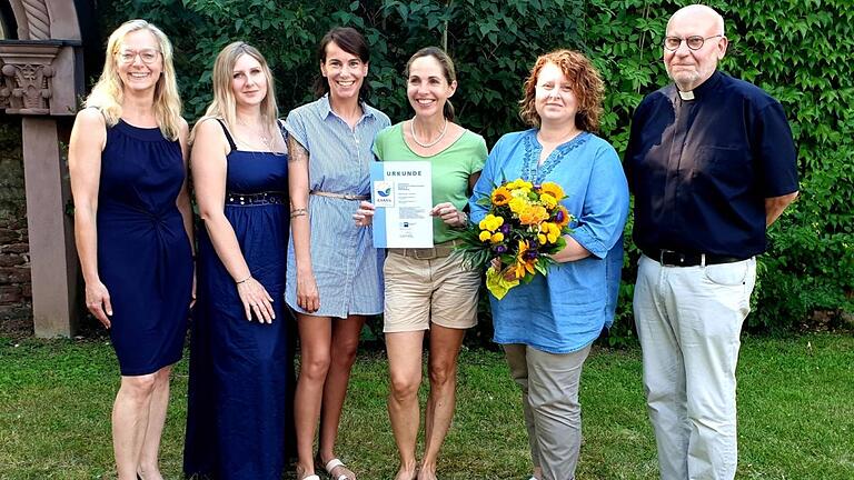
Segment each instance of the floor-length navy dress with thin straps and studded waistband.
[{"label": "floor-length navy dress with thin straps and studded waistband", "polygon": [[199,229],[183,470],[201,479],[279,480],[295,446],[294,336],[282,297],[288,158],[237,150],[220,126],[231,146],[225,214],[252,277],[274,299],[276,319],[247,321],[235,279]]}]

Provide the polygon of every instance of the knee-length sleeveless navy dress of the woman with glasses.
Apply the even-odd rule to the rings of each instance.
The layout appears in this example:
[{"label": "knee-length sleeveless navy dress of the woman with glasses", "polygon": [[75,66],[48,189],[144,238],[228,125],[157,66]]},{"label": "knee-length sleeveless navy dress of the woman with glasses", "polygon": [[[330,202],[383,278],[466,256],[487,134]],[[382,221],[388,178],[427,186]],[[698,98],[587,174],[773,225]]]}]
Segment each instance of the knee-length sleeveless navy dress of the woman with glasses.
[{"label": "knee-length sleeveless navy dress of the woman with glasses", "polygon": [[107,129],[98,190],[98,274],[112,303],[122,376],[181,359],[192,250],[176,207],[186,170],[178,141],[123,120]]}]

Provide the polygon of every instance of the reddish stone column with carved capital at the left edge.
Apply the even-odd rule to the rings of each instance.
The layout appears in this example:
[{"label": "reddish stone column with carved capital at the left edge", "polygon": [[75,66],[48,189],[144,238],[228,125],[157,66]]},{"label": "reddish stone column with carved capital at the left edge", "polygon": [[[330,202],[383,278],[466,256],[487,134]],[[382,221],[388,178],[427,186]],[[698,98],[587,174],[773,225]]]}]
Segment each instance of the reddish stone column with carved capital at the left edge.
[{"label": "reddish stone column with carved capital at the left edge", "polygon": [[82,91],[75,70],[79,48],[68,40],[0,43],[0,108],[21,116],[32,317],[37,337],[75,333],[79,264],[71,198],[58,118],[75,114]]}]

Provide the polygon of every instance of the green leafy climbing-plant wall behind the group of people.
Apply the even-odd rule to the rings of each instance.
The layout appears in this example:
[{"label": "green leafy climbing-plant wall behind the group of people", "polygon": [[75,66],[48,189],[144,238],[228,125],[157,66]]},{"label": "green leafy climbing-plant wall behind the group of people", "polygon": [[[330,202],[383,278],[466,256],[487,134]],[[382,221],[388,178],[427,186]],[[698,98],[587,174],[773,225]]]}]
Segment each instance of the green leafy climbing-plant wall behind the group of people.
[{"label": "green leafy climbing-plant wall behind the group of people", "polygon": [[[371,46],[371,103],[393,121],[411,112],[403,67],[426,46],[446,46],[458,69],[454,104],[461,124],[489,144],[523,128],[516,101],[539,53],[587,53],[607,86],[602,136],[625,149],[632,111],[667,83],[661,43],[667,18],[687,2],[665,0],[119,0],[100,10],[102,34],[145,18],[177,49],[186,116],[210,101],[210,68],[234,40],[257,46],[277,80],[284,114],[312,99],[316,46],[331,27],[352,26]],[[783,330],[815,311],[854,312],[854,9],[850,0],[707,2],[727,21],[722,70],[751,81],[786,110],[798,148],[801,198],[771,229],[759,259],[748,326]],[[632,290],[637,251],[627,259],[616,327],[608,341],[633,341]],[[480,337],[484,331],[478,332]]]}]

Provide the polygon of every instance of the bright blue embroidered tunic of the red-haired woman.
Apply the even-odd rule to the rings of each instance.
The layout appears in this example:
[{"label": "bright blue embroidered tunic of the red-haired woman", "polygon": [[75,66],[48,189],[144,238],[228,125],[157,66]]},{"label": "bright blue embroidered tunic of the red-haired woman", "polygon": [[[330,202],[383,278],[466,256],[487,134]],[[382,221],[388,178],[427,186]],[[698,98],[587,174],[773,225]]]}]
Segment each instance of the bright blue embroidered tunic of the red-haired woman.
[{"label": "bright blue embroidered tunic of the red-haired woman", "polygon": [[502,300],[489,296],[497,343],[524,343],[550,353],[569,353],[592,343],[610,327],[623,267],[623,227],[628,214],[628,186],[614,148],[583,132],[558,146],[537,166],[543,147],[537,130],[502,137],[486,160],[469,200],[471,221],[487,209],[488,197],[503,181],[523,178],[535,184],[558,183],[562,201],[577,220],[572,237],[590,256],[557,263],[548,276],[512,289]]}]

